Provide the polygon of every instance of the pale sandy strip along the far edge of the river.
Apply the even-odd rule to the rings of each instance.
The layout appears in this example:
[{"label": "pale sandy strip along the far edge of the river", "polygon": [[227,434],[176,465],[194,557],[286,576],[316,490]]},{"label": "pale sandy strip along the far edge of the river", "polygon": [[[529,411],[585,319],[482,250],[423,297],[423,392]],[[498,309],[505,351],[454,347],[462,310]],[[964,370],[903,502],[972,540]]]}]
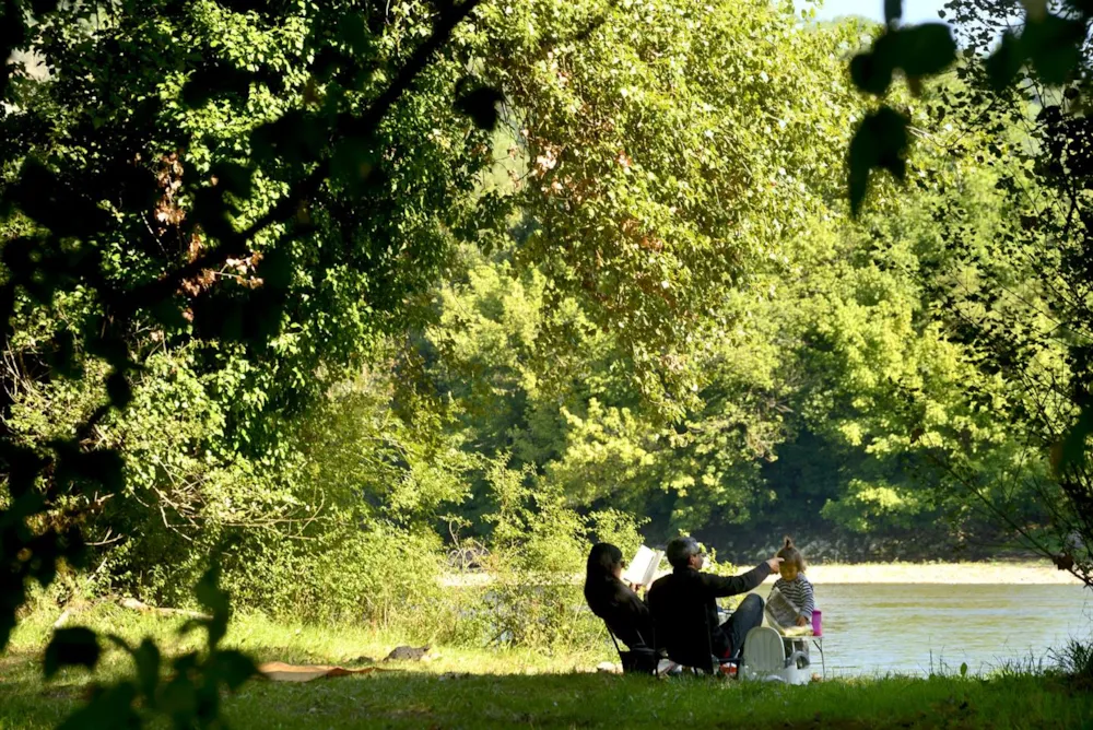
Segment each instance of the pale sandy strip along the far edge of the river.
[{"label": "pale sandy strip along the far edge of the river", "polygon": [[[1058,586],[1081,585],[1074,576],[1048,563],[861,563],[822,564],[808,569],[815,584],[980,584]],[[573,577],[579,582],[584,576]],[[449,574],[444,586],[469,587],[490,584],[483,573]]]}]

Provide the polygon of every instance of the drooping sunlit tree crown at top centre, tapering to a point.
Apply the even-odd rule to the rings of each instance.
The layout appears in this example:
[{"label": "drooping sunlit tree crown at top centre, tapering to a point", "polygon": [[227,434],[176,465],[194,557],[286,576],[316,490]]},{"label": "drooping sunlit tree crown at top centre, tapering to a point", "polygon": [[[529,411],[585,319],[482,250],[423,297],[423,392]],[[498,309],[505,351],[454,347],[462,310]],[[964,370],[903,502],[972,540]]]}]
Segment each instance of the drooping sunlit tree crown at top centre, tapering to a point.
[{"label": "drooping sunlit tree crown at top centre, tapering to a point", "polygon": [[516,259],[545,276],[550,306],[574,298],[613,332],[646,397],[682,416],[694,348],[734,325],[726,292],[786,256],[841,184],[849,28],[765,1],[656,0],[490,8],[483,26],[501,51],[484,73],[530,162],[510,196],[529,228]]}]

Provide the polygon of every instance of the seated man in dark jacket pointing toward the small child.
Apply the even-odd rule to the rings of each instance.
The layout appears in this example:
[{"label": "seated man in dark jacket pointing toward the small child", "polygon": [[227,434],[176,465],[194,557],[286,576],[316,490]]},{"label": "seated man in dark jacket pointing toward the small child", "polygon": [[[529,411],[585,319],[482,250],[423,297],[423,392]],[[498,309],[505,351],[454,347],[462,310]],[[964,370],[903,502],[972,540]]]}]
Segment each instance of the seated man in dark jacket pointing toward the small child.
[{"label": "seated man in dark jacket pointing toward the small child", "polygon": [[672,573],[654,582],[648,596],[657,644],[667,646],[671,656],[672,636],[679,636],[680,629],[697,628],[682,624],[694,622],[695,616],[701,621],[702,611],[705,611],[714,656],[720,659],[739,657],[748,632],[763,623],[763,599],[747,597],[724,624],[718,624],[715,599],[752,590],[768,575],[777,573],[781,558],[772,557],[743,575],[724,578],[700,573],[705,555],[694,538],[675,538],[665,552]]}]

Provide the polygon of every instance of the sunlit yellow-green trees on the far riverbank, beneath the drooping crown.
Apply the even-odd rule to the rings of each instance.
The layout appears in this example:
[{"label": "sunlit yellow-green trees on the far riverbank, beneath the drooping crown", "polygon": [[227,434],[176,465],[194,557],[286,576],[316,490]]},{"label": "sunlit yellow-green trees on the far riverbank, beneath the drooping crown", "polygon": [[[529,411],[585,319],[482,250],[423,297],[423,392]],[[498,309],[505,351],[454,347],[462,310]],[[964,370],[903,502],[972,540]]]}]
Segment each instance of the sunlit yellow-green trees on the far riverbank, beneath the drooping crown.
[{"label": "sunlit yellow-green trees on the far riverbank, beneath the drooping crown", "polygon": [[[969,153],[941,180],[892,191],[861,225],[834,214],[818,223],[788,266],[755,272],[727,297],[727,318],[741,325],[704,343],[702,408],[682,421],[663,422],[643,400],[611,332],[576,302],[545,308],[541,274],[515,275],[504,251],[466,254],[439,293],[426,370],[459,414],[463,448],[509,451],[574,504],[648,515],[656,534],[736,525],[755,539],[834,525],[913,537],[929,527],[936,543],[983,527],[982,516],[953,497],[924,445],[979,455],[987,483],[1021,450],[989,409],[965,402],[969,389],[998,389],[979,376],[976,351],[932,317],[955,275],[932,215],[960,201],[975,221],[966,238],[986,245],[1008,210],[996,179]],[[944,278],[926,285],[928,270]],[[543,337],[546,320],[568,328],[564,349]]]}]

